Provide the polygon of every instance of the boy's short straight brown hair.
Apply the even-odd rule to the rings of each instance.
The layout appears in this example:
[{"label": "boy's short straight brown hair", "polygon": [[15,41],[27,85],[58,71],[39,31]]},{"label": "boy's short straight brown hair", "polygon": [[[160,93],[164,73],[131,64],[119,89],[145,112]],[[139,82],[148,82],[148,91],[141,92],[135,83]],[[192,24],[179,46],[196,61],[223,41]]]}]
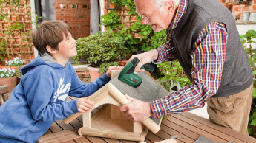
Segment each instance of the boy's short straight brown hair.
[{"label": "boy's short straight brown hair", "polygon": [[[33,45],[39,51],[39,55],[47,52],[46,46],[58,49],[58,44],[63,40],[63,34],[67,37],[71,32],[70,27],[63,21],[45,21],[32,33]],[[49,52],[47,52],[50,54]]]}]

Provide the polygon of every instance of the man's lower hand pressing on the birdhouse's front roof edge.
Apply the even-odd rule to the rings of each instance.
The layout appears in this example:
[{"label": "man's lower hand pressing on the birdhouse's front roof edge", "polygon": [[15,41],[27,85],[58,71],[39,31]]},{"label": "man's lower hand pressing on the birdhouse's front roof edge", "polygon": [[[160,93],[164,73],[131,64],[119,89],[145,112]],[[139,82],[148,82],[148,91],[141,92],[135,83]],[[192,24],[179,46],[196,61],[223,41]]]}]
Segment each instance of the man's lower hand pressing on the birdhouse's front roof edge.
[{"label": "man's lower hand pressing on the birdhouse's front roof edge", "polygon": [[128,97],[132,102],[123,105],[120,108],[121,112],[124,112],[125,116],[132,121],[144,121],[152,116],[151,106],[149,102],[143,102],[141,100],[136,100],[132,97]]}]

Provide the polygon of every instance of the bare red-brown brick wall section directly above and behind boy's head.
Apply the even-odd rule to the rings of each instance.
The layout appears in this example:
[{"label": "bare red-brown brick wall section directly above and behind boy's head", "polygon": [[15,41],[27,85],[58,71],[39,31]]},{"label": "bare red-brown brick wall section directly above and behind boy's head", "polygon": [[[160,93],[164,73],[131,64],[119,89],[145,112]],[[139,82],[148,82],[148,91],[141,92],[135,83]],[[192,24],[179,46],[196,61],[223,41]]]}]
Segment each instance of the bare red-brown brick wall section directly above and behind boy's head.
[{"label": "bare red-brown brick wall section directly above and behind boy's head", "polygon": [[[65,8],[61,8],[60,4]],[[72,8],[72,4],[77,4],[77,8]],[[74,38],[90,35],[90,0],[55,0],[55,5],[56,20],[65,21],[72,29]]]}]

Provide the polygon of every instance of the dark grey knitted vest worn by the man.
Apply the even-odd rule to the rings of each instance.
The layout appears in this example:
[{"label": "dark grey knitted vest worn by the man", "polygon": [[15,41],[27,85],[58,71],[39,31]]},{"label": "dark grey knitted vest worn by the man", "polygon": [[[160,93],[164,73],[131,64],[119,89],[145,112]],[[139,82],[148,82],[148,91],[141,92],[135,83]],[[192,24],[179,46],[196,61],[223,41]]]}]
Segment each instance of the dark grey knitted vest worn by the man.
[{"label": "dark grey knitted vest worn by the man", "polygon": [[190,0],[186,14],[176,29],[171,30],[171,38],[180,65],[192,82],[191,49],[200,32],[213,21],[226,24],[228,41],[220,87],[212,97],[226,97],[245,90],[253,80],[252,69],[240,43],[232,13],[217,0]]}]

